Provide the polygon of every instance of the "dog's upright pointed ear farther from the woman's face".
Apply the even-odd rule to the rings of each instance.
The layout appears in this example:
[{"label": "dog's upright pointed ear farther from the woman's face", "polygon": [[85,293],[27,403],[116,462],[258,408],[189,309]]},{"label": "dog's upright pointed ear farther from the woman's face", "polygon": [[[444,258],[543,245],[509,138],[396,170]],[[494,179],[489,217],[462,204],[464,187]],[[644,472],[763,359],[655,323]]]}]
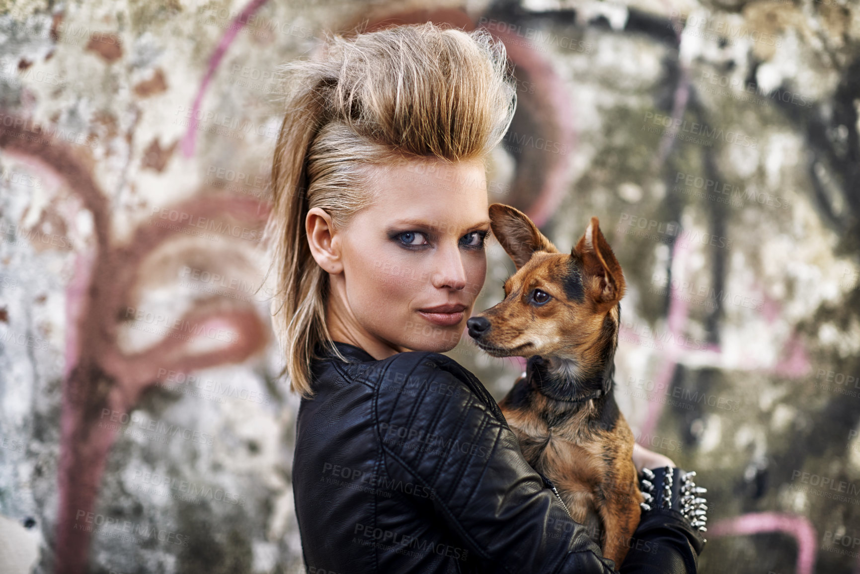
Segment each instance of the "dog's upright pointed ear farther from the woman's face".
[{"label": "dog's upright pointed ear farther from the woman's face", "polygon": [[626,283],[621,265],[603,237],[596,217],[591,219],[571,255],[581,259],[585,274],[593,278],[586,284],[593,283],[593,296],[598,303],[615,303],[624,297]]}]

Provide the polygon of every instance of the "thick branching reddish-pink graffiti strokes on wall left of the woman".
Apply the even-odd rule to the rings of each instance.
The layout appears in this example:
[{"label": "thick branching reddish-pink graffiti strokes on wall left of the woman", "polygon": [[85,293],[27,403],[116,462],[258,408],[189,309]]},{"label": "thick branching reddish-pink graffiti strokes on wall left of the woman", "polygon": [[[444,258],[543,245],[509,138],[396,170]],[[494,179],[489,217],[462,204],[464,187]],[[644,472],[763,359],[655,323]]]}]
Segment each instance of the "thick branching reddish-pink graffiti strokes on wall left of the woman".
[{"label": "thick branching reddish-pink graffiti strokes on wall left of the woman", "polygon": [[[92,160],[80,157],[64,142],[18,126],[15,123],[0,131],[3,153],[24,158],[49,180],[63,182],[93,220],[94,244],[75,254],[77,268],[65,290],[68,324],[59,420],[59,509],[53,548],[55,572],[81,574],[87,570],[92,535],[87,517],[95,507],[119,426],[104,424],[105,411],[119,415],[130,412],[141,395],[157,385],[162,371],[187,373],[245,361],[266,348],[269,330],[252,304],[211,296],[194,300],[175,324],[218,324],[235,334],[229,343],[197,351],[198,338],[187,336],[181,327],[171,327],[163,340],[149,349],[137,353],[121,349],[123,312],[138,299],[138,269],[166,242],[187,238],[187,231],[197,230],[187,223],[141,225],[130,242],[114,244],[107,195],[86,167]],[[175,207],[197,221],[235,220],[243,229],[255,232],[262,230],[269,209],[267,204],[208,188]]]}]

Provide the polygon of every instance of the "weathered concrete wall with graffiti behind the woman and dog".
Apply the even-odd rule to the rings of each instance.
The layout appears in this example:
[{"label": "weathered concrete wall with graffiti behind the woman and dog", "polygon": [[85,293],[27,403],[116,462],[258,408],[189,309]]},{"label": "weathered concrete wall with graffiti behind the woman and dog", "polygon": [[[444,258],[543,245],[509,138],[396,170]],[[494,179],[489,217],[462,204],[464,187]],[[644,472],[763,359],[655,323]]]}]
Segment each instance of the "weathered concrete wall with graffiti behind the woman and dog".
[{"label": "weathered concrete wall with graffiti behind the woman and dog", "polygon": [[[273,71],[393,15],[506,42],[491,200],[562,249],[599,217],[628,286],[617,400],[709,488],[702,571],[855,571],[860,5],[445,6],[0,4],[9,571],[301,570],[298,399],[256,291]],[[489,258],[478,310],[513,270]],[[497,398],[519,373],[451,356]]]}]

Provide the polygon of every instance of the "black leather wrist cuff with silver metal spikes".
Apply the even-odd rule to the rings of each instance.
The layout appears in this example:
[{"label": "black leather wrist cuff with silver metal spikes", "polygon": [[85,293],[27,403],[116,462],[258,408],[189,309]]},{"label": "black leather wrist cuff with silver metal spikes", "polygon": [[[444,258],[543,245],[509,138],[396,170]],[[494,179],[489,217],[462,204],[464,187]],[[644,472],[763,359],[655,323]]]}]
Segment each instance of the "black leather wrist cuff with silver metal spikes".
[{"label": "black leather wrist cuff with silver metal spikes", "polygon": [[708,501],[702,496],[708,490],[693,481],[696,471],[684,472],[673,466],[642,469],[639,490],[644,502],[642,512],[656,509],[678,510],[699,532],[706,532]]}]

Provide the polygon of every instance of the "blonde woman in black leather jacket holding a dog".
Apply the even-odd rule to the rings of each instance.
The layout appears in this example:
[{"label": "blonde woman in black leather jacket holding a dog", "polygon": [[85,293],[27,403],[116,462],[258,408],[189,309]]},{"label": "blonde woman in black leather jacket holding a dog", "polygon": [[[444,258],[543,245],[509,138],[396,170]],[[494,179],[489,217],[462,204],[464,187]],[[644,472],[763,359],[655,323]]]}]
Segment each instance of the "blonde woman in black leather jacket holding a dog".
[{"label": "blonde woman in black leather jacket holding a dog", "polygon": [[504,46],[397,26],[285,70],[267,236],[302,395],[292,480],[308,571],[696,571],[703,521],[679,506],[697,495],[671,460],[637,448],[657,488],[614,565],[480,381],[440,354],[486,275],[484,161],[516,107]]}]

